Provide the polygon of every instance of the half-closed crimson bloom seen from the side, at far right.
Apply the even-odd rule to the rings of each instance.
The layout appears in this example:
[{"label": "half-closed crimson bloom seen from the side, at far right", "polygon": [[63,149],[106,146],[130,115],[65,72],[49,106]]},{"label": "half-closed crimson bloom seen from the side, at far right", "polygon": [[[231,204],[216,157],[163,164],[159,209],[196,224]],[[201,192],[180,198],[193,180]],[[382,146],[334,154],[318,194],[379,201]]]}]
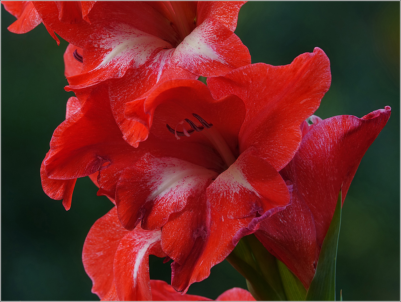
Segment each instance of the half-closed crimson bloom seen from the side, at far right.
[{"label": "half-closed crimson bloom seen from the side, at far right", "polygon": [[315,273],[338,193],[342,202],[369,146],[386,125],[391,108],[357,118],[340,115],[312,125],[302,123],[304,138],[294,159],[280,171],[290,188],[291,204],[260,224],[263,245],[300,278],[306,288]]}]

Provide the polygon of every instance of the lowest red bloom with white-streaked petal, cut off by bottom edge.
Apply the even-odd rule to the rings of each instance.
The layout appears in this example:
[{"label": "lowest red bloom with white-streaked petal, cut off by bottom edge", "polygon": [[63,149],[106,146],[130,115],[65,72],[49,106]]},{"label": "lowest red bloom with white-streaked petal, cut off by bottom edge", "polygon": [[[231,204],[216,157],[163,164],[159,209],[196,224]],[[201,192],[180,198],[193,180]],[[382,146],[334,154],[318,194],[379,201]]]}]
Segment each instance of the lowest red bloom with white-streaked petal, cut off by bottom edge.
[{"label": "lowest red bloom with white-streaked petal, cut off by bottom edge", "polygon": [[[92,292],[103,301],[196,301],[210,300],[181,294],[161,280],[149,278],[149,254],[165,257],[160,230],[126,230],[115,207],[98,219],[85,240],[82,262],[92,279]],[[232,288],[217,301],[255,301],[242,288]]]}]

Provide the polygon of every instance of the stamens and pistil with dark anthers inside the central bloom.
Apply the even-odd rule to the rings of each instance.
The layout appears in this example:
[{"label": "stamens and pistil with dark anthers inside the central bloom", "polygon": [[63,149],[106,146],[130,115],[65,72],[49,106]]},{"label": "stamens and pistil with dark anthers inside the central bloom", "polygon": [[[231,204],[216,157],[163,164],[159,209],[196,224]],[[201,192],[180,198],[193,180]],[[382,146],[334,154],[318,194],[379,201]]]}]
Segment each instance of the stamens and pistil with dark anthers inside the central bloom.
[{"label": "stamens and pistil with dark anthers inside the central bloom", "polygon": [[[196,126],[195,123],[190,119],[184,119],[178,122],[174,129],[166,124],[168,131],[174,134],[176,139],[180,139],[181,136],[189,137],[194,132],[201,132],[203,135],[205,135],[205,137],[207,137],[207,139],[209,139],[217,152],[219,152],[227,167],[231,166],[235,162],[236,158],[219,131],[217,131],[215,128],[212,128],[213,124],[208,123],[196,113],[192,113],[192,115],[199,121],[199,123],[201,123],[200,126]],[[184,125],[185,122],[190,126],[188,129]],[[182,126],[182,131],[177,131],[178,125]]]}]

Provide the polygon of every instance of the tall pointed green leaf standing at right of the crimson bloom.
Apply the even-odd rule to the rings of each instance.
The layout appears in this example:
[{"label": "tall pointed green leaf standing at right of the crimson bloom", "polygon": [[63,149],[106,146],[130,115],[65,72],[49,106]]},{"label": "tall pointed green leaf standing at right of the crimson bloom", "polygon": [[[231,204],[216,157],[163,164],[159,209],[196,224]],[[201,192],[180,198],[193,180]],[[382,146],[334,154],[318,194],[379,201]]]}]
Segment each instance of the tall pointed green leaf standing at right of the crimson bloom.
[{"label": "tall pointed green leaf standing at right of the crimson bloom", "polygon": [[338,194],[336,209],[323,240],[322,250],[315,276],[306,293],[306,301],[335,301],[336,300],[336,258],[338,235],[341,224],[341,191]]}]

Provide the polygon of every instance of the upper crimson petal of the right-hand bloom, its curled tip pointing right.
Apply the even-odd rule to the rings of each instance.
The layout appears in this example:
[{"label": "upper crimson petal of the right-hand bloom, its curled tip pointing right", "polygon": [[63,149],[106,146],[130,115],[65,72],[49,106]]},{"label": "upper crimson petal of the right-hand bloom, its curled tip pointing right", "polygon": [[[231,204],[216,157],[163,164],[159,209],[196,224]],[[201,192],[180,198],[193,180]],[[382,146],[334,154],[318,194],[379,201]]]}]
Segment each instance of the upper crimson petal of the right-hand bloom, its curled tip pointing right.
[{"label": "upper crimson petal of the right-hand bloom, its curled tip pointing right", "polygon": [[361,119],[352,115],[325,119],[305,135],[292,165],[284,169],[293,175],[294,189],[312,211],[319,245],[326,236],[340,188],[344,201],[360,160],[390,114],[391,108],[386,106]]}]

